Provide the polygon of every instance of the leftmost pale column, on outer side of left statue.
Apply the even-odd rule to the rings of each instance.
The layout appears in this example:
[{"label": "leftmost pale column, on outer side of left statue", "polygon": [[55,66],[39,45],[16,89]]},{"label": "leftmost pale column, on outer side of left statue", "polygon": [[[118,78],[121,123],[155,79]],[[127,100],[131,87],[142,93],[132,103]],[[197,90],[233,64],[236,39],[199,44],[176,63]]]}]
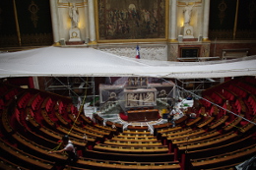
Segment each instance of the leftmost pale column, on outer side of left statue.
[{"label": "leftmost pale column, on outer side of left statue", "polygon": [[57,1],[50,1],[51,24],[53,32],[53,41],[55,45],[59,45],[59,23],[58,23],[58,9]]}]

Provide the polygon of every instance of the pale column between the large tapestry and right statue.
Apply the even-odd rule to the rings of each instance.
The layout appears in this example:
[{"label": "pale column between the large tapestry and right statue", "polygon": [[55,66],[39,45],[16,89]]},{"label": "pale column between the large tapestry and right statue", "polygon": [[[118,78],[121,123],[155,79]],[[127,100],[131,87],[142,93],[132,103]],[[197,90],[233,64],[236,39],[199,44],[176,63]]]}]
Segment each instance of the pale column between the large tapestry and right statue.
[{"label": "pale column between the large tapestry and right statue", "polygon": [[170,0],[170,26],[169,26],[169,39],[170,41],[176,40],[177,32],[177,0]]}]

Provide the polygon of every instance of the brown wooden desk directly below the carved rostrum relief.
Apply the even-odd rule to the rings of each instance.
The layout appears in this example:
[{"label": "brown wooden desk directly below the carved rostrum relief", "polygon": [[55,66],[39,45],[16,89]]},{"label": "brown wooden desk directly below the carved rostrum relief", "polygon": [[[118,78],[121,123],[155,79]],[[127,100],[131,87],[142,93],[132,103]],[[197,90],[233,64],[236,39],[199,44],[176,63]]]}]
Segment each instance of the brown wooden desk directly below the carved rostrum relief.
[{"label": "brown wooden desk directly below the carved rostrum relief", "polygon": [[130,110],[127,111],[128,121],[139,121],[139,122],[147,122],[147,121],[156,121],[159,120],[159,110],[158,109],[150,109],[150,110]]}]

